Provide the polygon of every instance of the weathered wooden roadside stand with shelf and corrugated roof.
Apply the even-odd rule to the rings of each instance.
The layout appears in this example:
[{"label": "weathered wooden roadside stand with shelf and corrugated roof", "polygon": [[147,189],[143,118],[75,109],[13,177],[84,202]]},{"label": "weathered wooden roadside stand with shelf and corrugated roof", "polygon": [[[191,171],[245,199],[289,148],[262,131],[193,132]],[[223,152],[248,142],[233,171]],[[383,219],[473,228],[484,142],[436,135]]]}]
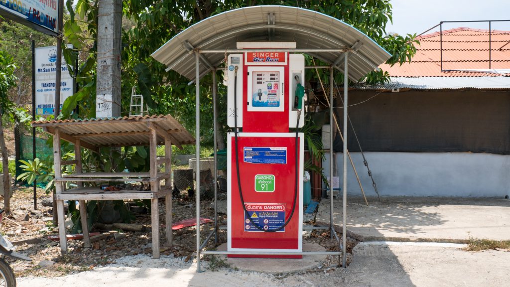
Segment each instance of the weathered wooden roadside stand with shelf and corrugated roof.
[{"label": "weathered wooden roadside stand with shelf and corrugated roof", "polygon": [[[60,247],[62,253],[67,252],[64,201],[79,202],[81,221],[87,222],[87,200],[125,200],[150,199],[152,226],[152,255],[159,258],[159,209],[158,201],[165,198],[165,223],[167,245],[172,245],[172,198],[171,198],[171,146],[182,148],[182,145],[195,143],[193,136],[171,115],[130,116],[98,119],[65,119],[57,121],[38,121],[33,127],[42,127],[53,134],[53,150],[55,163],[55,194],[59,220]],[[74,144],[74,160],[62,160],[60,139]],[[165,156],[158,158],[157,145],[165,146]],[[149,146],[150,167],[146,173],[83,173],[81,148],[98,152],[100,147]],[[62,165],[76,164],[75,173],[62,176]],[[158,173],[158,166],[165,165],[165,172]],[[161,181],[165,181],[161,185]],[[136,181],[150,184],[150,190],[102,190],[95,184],[84,186],[84,182],[127,182]],[[77,182],[76,188],[65,189],[66,182]],[[85,247],[90,246],[89,230],[82,225]]]}]

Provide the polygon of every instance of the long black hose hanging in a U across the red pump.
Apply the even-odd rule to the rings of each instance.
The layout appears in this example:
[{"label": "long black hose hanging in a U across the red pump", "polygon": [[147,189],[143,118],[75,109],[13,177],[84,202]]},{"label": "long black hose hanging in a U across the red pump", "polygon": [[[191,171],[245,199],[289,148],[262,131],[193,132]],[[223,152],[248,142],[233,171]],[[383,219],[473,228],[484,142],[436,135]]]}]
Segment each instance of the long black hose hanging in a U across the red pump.
[{"label": "long black hose hanging in a U across the red pump", "polygon": [[[296,124],[296,143],[295,143],[295,146],[296,146],[296,156],[295,156],[295,161],[296,161],[296,178],[295,178],[295,182],[294,182],[294,202],[292,203],[292,210],[290,212],[290,215],[289,215],[289,218],[285,221],[284,225],[282,225],[281,227],[277,228],[277,229],[272,229],[272,230],[266,230],[262,227],[260,227],[258,224],[254,223],[253,220],[251,219],[250,217],[250,214],[248,213],[248,210],[246,210],[246,204],[244,204],[244,198],[243,198],[243,192],[241,190],[241,177],[240,177],[240,173],[239,173],[239,147],[238,147],[238,139],[237,139],[237,134],[238,134],[238,128],[237,128],[237,69],[238,67],[236,66],[235,67],[235,72],[234,72],[234,134],[235,134],[235,145],[236,145],[236,173],[237,173],[237,188],[239,189],[239,198],[241,199],[241,204],[243,205],[243,210],[246,214],[246,216],[248,217],[248,220],[251,222],[251,224],[253,224],[257,229],[261,230],[261,231],[264,231],[264,232],[276,232],[276,231],[280,231],[282,229],[285,228],[285,226],[287,226],[287,224],[289,224],[289,222],[291,221],[292,219],[292,216],[294,215],[294,210],[296,208],[296,201],[297,201],[297,194],[298,194],[298,180],[299,180],[299,177],[298,177],[298,174],[299,174],[299,161],[298,161],[298,156],[299,156],[299,148],[298,148],[298,143],[299,143],[299,118],[301,117],[301,110],[298,110],[298,113],[297,113],[297,124]],[[296,76],[296,80],[297,79],[297,76]],[[298,82],[299,83],[299,82]]]}]

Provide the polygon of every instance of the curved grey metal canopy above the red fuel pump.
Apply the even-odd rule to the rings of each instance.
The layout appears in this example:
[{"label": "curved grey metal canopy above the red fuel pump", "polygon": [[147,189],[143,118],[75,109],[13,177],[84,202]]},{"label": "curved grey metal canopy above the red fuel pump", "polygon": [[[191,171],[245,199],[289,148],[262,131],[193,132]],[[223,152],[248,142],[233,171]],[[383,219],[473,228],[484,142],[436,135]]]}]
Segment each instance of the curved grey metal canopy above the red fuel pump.
[{"label": "curved grey metal canopy above the red fuel pump", "polygon": [[[343,21],[288,6],[253,6],[214,15],[177,34],[151,56],[194,80],[193,50],[235,50],[236,42],[248,41],[296,42],[296,49],[313,49],[306,53],[339,70],[344,62],[341,49],[349,50],[349,78],[354,81],[391,57],[367,35]],[[205,75],[223,62],[225,54],[202,53],[200,59],[200,75]]]}]

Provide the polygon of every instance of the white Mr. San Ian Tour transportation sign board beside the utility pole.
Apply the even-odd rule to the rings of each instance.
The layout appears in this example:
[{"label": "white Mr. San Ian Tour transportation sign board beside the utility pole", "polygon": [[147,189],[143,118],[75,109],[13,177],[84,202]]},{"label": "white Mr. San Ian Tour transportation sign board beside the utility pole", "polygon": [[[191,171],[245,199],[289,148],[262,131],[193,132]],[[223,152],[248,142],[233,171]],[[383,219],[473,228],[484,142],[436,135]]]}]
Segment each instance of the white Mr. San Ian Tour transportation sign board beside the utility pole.
[{"label": "white Mr. San Ian Tour transportation sign board beside the utility pole", "polygon": [[[0,0],[2,1],[2,0]],[[67,64],[62,57],[60,83],[60,109],[64,101],[74,93],[74,80],[69,75]],[[55,80],[57,71],[57,47],[47,46],[35,49],[35,111],[37,115],[54,114]]]}]

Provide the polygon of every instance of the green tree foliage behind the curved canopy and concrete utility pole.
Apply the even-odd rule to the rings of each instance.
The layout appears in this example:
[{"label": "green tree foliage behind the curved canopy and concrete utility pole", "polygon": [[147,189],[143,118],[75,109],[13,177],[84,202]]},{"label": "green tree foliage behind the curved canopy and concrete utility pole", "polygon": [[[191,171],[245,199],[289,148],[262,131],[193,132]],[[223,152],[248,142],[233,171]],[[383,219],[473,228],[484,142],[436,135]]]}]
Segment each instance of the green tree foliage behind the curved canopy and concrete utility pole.
[{"label": "green tree foliage behind the curved canopy and concrete utility pole", "polygon": [[[83,46],[80,43],[85,39],[96,38],[97,0],[78,0],[74,8],[72,3],[71,0],[67,1],[70,19],[64,25],[64,35],[68,42],[80,49]],[[253,5],[295,6],[296,1],[123,1],[121,88],[124,113],[129,110],[131,88],[134,86],[137,93],[143,94],[151,113],[171,113],[193,132],[195,128],[194,86],[188,86],[189,81],[174,71],[166,72],[166,67],[152,59],[150,54],[170,38],[200,20],[224,11]],[[338,18],[367,34],[392,54],[388,60],[390,64],[409,61],[416,52],[414,47],[416,41],[413,40],[412,35],[405,37],[386,35],[386,24],[392,20],[392,6],[389,0],[313,0],[300,1],[299,5],[301,8]],[[80,28],[80,25],[85,26]],[[83,35],[84,28],[88,31],[87,37]],[[63,117],[70,116],[77,104],[81,107],[82,116],[93,116],[95,46],[94,43],[87,59],[80,65],[79,79],[82,88],[64,103]],[[65,54],[68,57],[72,56],[70,51]],[[339,73],[337,74],[339,82],[342,82],[343,78]],[[384,71],[373,72],[364,80],[369,83],[387,81],[388,74]],[[201,83],[203,85],[200,109],[207,112],[201,114],[200,133],[203,135],[202,140],[212,144],[210,140],[213,137],[213,119],[210,112],[212,110],[211,76],[206,76]],[[226,89],[222,85],[219,85],[219,89],[219,107],[224,107],[226,106]],[[90,108],[87,109],[87,107]],[[219,110],[219,122],[220,129],[226,127],[226,109]]]}]

